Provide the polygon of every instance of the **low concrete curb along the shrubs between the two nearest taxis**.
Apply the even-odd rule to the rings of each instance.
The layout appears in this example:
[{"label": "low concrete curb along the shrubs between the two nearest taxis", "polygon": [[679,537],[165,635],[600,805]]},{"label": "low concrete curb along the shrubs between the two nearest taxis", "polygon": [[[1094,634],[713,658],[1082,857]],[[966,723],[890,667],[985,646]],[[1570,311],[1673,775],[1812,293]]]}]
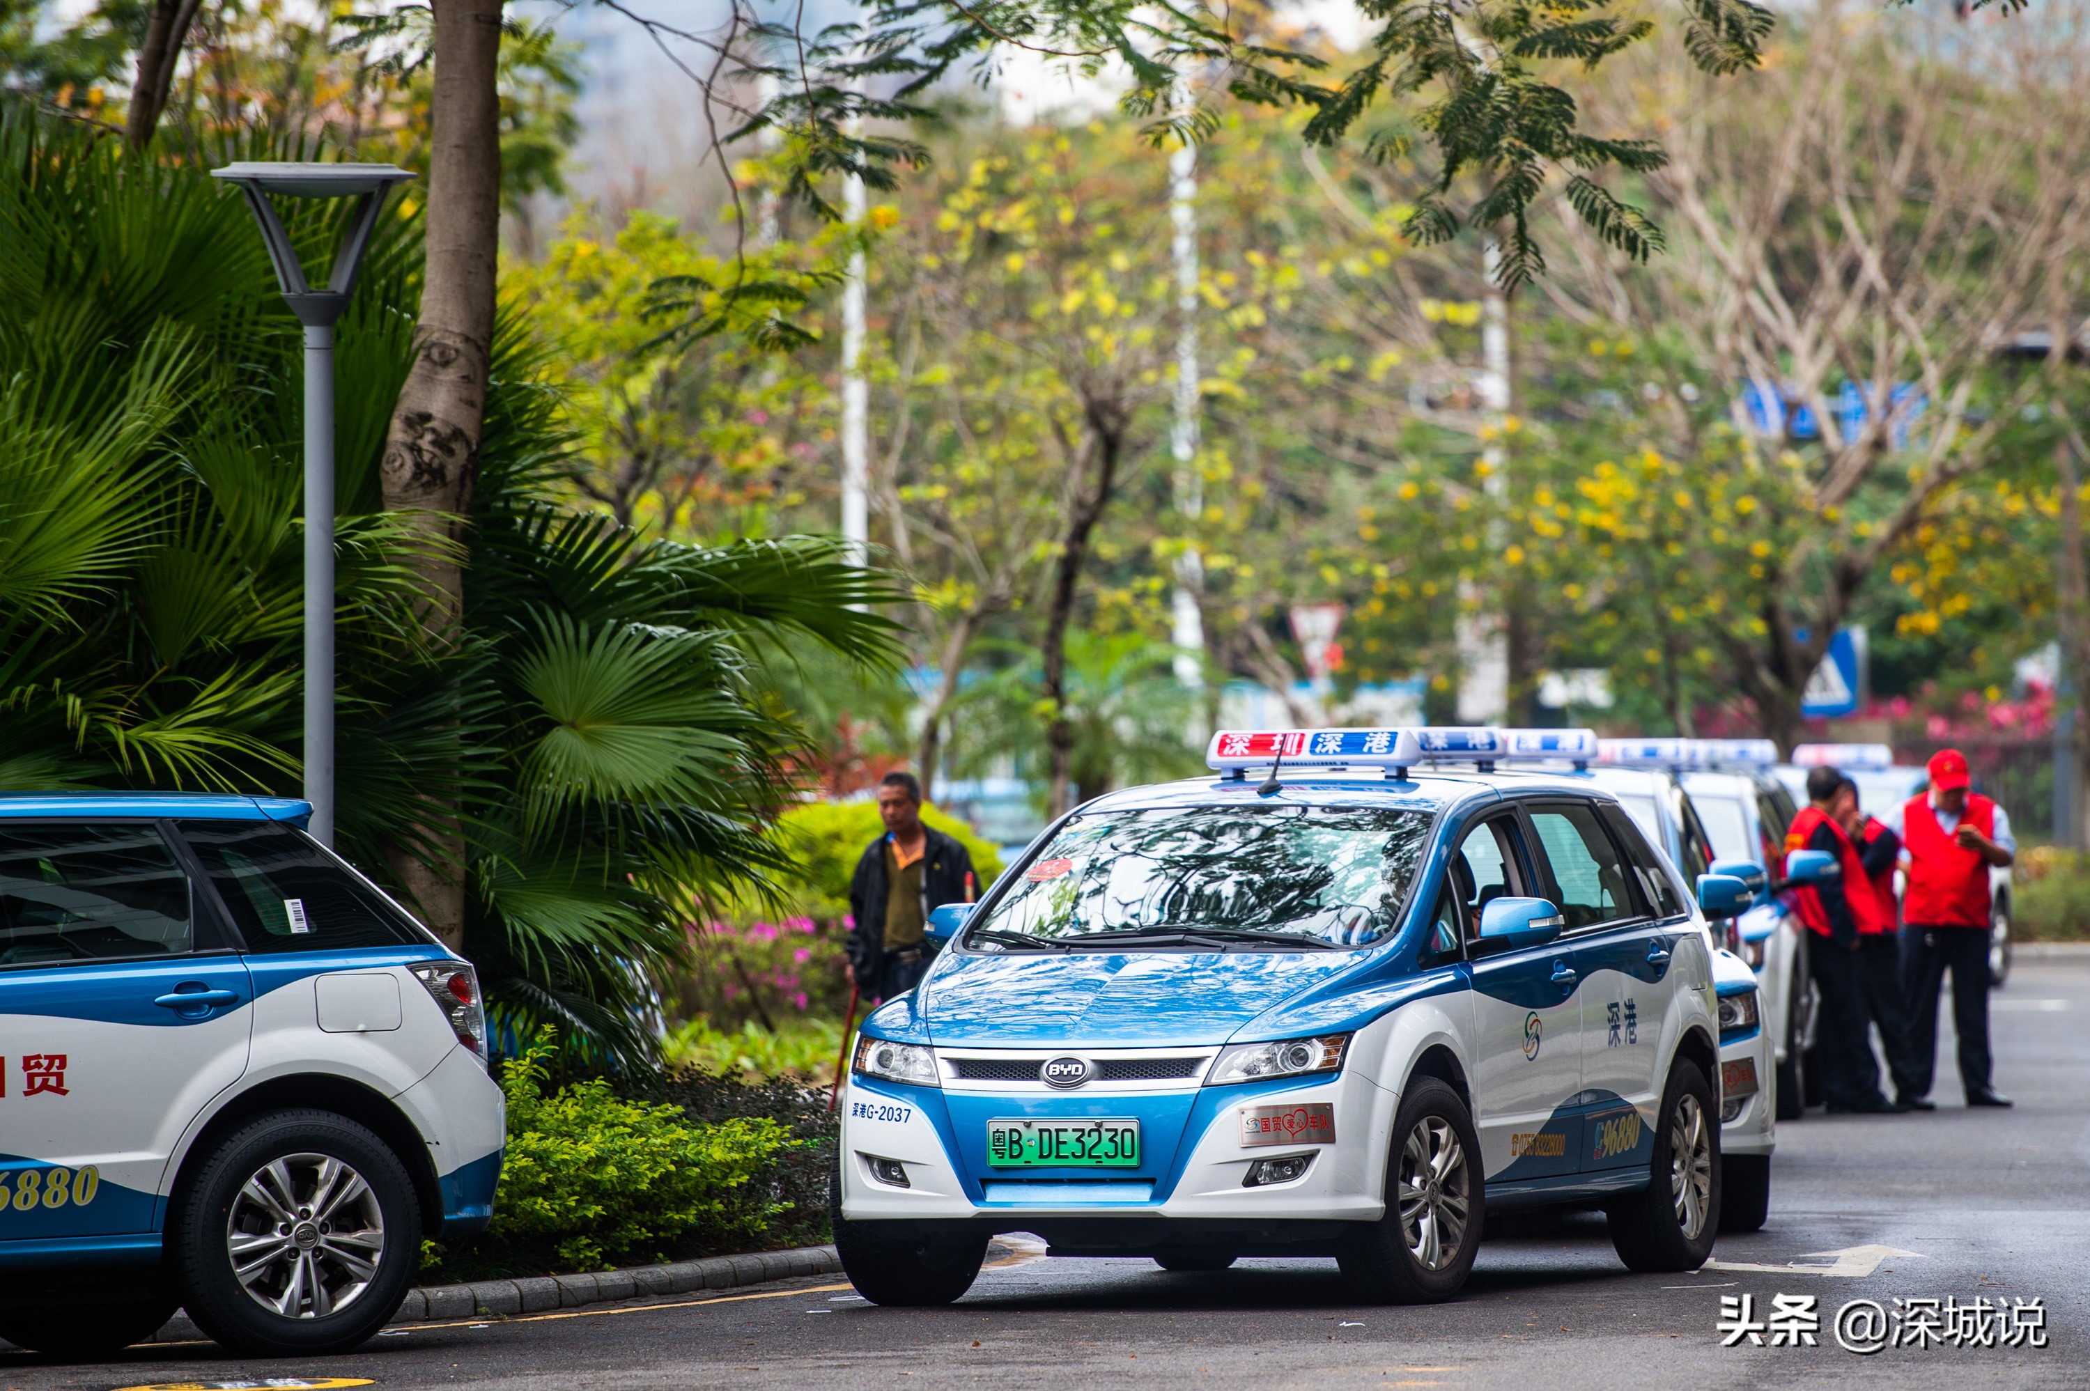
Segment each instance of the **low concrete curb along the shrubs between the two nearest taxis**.
[{"label": "low concrete curb along the shrubs between the two nearest taxis", "polygon": [[[424,1324],[451,1318],[500,1318],[579,1310],[591,1303],[660,1299],[713,1289],[740,1289],[794,1276],[838,1274],[842,1259],[834,1247],[796,1247],[752,1255],[713,1255],[700,1262],[633,1266],[577,1276],[535,1276],[522,1280],[474,1280],[472,1284],[422,1284],[410,1289],[391,1324]],[[155,1343],[194,1343],[205,1333],[176,1314]]]}]

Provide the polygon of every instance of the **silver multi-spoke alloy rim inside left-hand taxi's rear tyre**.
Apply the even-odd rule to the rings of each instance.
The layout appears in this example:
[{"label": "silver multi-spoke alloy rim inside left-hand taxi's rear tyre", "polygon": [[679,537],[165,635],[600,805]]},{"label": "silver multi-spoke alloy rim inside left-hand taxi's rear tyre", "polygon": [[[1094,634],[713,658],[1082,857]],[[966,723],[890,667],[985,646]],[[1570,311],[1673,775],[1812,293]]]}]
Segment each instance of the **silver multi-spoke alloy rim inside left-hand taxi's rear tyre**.
[{"label": "silver multi-spoke alloy rim inside left-hand taxi's rear tyre", "polygon": [[385,1259],[385,1211],[364,1176],[332,1155],[282,1155],[232,1199],[232,1274],[255,1303],[284,1318],[339,1314],[370,1289]]}]

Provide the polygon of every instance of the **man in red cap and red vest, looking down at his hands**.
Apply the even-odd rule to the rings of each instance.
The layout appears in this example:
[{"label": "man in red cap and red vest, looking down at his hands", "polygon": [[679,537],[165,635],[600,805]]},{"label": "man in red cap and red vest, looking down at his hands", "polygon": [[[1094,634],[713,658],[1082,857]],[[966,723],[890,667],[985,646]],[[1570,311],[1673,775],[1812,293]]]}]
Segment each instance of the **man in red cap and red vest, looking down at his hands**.
[{"label": "man in red cap and red vest, looking down at his hands", "polygon": [[1952,1028],[1958,1030],[1960,1086],[1971,1107],[2006,1107],[1990,1086],[1988,1055],[1988,871],[2017,858],[2011,819],[1973,792],[1967,756],[1940,750],[1931,787],[1902,808],[1908,892],[1902,900],[1908,952],[1908,1017],[1917,1048],[1912,1092],[1931,1090],[1937,1067],[1937,988],[1952,969]]}]

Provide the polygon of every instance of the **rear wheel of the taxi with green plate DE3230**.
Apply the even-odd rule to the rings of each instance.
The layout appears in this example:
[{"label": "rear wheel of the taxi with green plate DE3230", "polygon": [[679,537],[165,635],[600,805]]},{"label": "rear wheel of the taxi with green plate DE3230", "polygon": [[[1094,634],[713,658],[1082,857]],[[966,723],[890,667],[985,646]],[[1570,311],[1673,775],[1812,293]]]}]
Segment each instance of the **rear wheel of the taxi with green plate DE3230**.
[{"label": "rear wheel of the taxi with green plate DE3230", "polygon": [[1611,1247],[1628,1270],[1697,1270],[1720,1234],[1720,1113],[1705,1074],[1687,1057],[1670,1065],[1655,1113],[1647,1186],[1605,1209]]}]

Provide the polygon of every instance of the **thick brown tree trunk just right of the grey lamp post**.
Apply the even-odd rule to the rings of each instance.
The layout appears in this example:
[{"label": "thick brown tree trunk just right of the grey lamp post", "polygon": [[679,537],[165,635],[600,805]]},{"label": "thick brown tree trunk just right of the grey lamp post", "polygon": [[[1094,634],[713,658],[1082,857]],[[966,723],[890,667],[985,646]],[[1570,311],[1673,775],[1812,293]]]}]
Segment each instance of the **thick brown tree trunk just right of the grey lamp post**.
[{"label": "thick brown tree trunk just right of the grey lamp post", "polygon": [[[414,560],[424,622],[454,643],[464,620],[456,543],[472,503],[487,414],[500,267],[502,142],[495,65],[500,0],[435,0],[435,96],[428,150],[426,272],[414,368],[385,434],[385,505],[408,512],[431,543]],[[464,835],[454,800],[428,798],[410,842],[391,852],[428,925],[464,942]]]}]

